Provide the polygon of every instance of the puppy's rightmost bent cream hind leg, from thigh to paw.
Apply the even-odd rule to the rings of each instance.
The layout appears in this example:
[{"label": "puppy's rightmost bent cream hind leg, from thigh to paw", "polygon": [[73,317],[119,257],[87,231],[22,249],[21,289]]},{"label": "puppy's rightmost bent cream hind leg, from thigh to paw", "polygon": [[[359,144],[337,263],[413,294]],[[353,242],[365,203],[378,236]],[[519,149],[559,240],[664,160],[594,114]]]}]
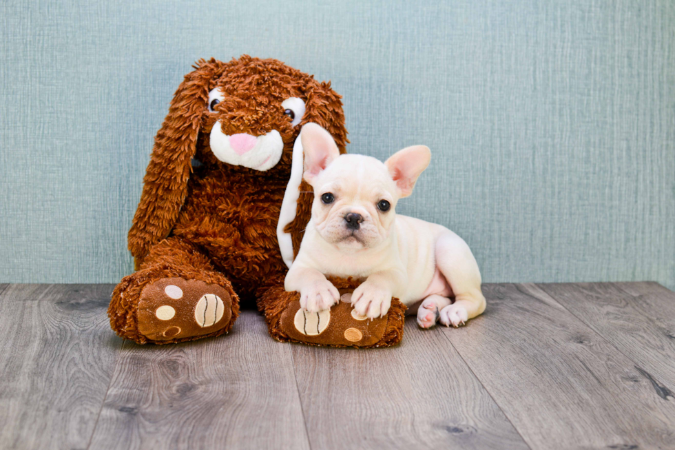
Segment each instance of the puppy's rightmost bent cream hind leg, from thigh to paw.
[{"label": "puppy's rightmost bent cream hind leg, from thigh to paw", "polygon": [[459,327],[485,311],[478,263],[466,242],[453,232],[439,236],[435,250],[436,265],[455,294],[455,303],[441,309],[439,319],[446,327]]}]

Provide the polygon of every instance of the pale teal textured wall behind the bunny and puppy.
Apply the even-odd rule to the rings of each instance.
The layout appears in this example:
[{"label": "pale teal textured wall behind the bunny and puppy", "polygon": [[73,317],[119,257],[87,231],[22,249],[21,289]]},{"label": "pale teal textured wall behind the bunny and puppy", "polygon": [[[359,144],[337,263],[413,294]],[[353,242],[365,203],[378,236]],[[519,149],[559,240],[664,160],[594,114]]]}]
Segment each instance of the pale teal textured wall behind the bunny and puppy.
[{"label": "pale teal textured wall behind the bunny and puppy", "polygon": [[0,282],[116,282],[154,134],[200,57],[344,96],[349,150],[433,162],[399,212],[486,282],[675,287],[675,2],[42,1],[0,6]]}]

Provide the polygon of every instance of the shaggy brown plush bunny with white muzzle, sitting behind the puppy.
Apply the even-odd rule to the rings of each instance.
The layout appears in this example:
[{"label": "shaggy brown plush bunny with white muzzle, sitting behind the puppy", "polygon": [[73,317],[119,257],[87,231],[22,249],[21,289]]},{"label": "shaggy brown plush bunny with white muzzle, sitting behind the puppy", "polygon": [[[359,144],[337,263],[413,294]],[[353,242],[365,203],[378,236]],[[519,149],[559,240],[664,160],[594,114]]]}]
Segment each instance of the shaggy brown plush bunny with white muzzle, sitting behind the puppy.
[{"label": "shaggy brown plush bunny with white muzzle, sitting behind the puppy", "polygon": [[[342,103],[330,83],[274,59],[198,61],[155,138],[129,230],[137,272],[117,285],[108,309],[118,335],[157,344],[218,336],[240,301],[257,301],[279,340],[399,342],[404,306],[396,301],[373,322],[353,318],[347,303],[313,318],[297,293],[284,292],[311,214],[298,139],[308,122],[345,152]],[[334,283],[344,292],[358,284]]]}]

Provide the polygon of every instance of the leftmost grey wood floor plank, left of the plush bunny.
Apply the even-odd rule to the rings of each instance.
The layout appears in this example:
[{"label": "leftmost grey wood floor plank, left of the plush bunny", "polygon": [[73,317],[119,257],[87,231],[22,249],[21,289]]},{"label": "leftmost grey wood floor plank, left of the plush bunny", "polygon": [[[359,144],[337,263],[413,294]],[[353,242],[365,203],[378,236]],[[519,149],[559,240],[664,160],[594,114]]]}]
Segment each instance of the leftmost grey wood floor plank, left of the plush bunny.
[{"label": "leftmost grey wood floor plank, left of the plush bunny", "polygon": [[121,339],[112,285],[10,285],[0,296],[0,447],[83,449]]}]

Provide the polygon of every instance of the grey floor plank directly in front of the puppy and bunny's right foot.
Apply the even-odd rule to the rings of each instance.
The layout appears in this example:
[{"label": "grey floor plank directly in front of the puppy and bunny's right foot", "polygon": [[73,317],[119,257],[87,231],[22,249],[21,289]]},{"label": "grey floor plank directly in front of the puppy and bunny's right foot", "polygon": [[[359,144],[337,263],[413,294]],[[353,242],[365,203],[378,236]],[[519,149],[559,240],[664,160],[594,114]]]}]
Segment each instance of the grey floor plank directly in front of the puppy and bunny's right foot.
[{"label": "grey floor plank directly in front of the puppy and bunny's right foot", "polygon": [[442,333],[406,321],[388,349],[293,345],[313,449],[526,449]]}]

